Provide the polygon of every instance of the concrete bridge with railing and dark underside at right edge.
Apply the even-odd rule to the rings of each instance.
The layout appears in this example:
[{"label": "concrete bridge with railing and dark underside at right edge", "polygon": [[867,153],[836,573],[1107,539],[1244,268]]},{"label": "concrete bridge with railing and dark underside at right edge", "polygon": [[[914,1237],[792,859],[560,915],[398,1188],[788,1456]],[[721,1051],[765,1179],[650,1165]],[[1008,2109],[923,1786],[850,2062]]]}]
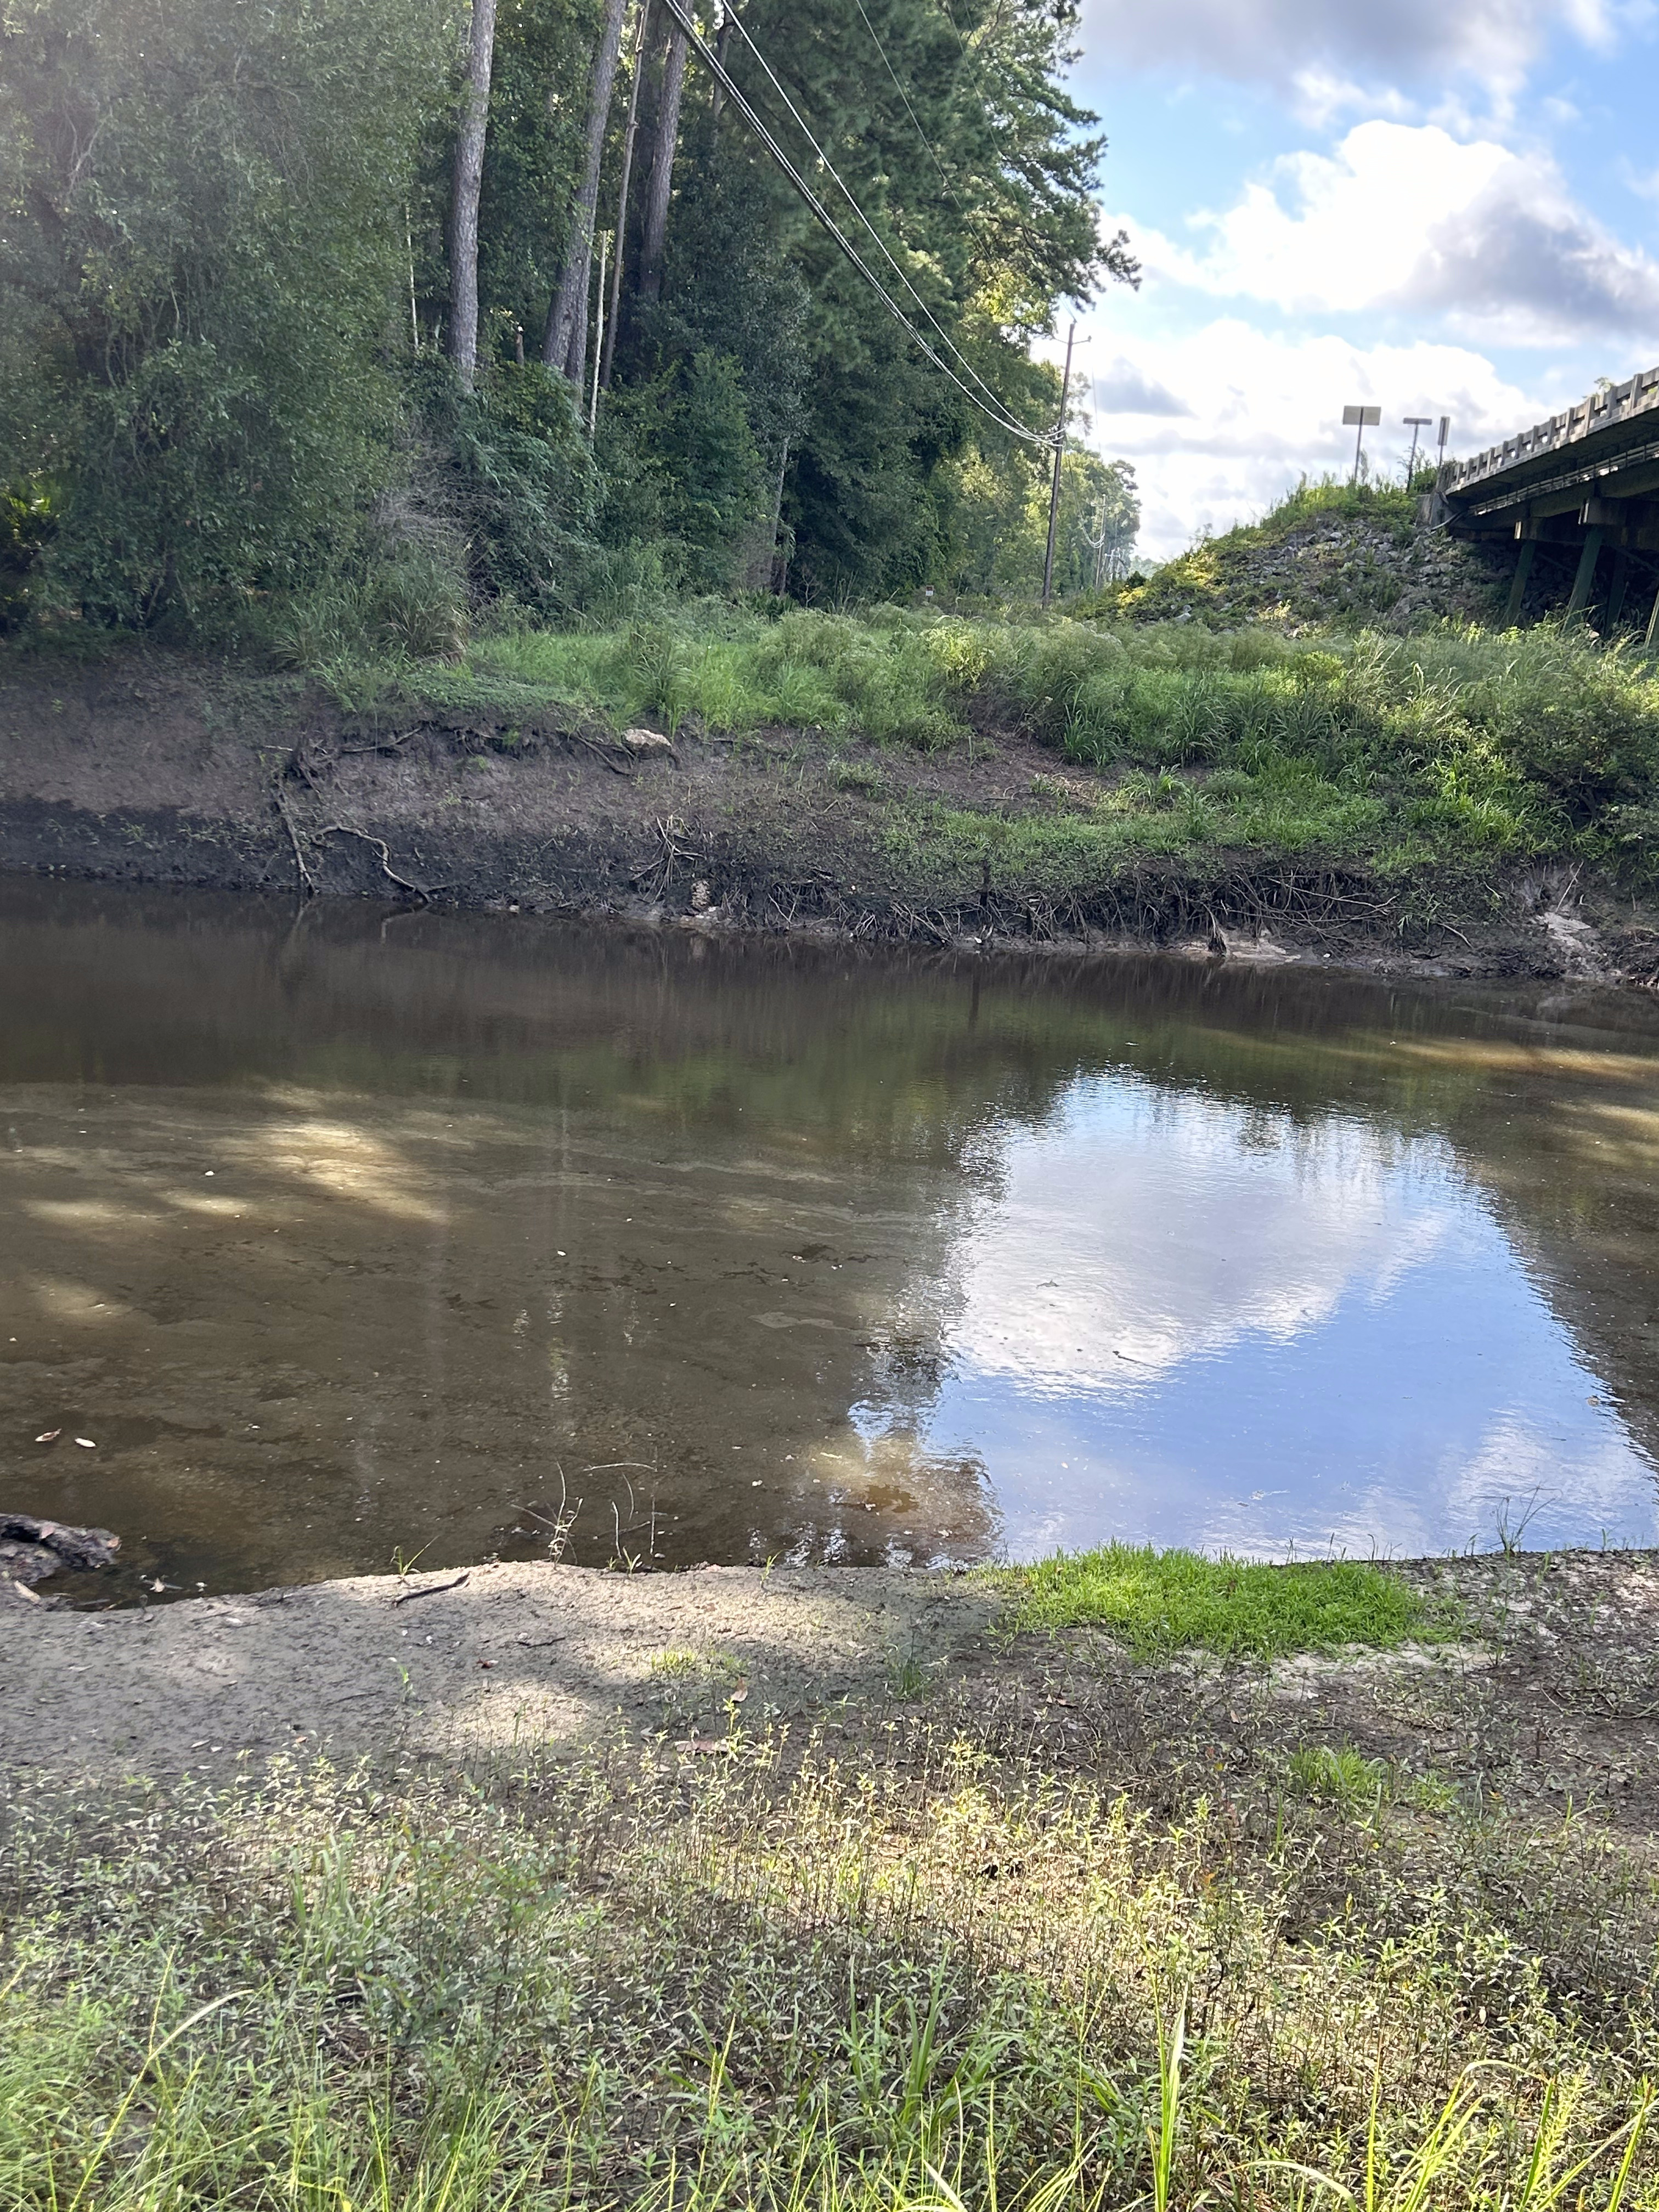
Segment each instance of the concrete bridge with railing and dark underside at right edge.
[{"label": "concrete bridge with railing and dark underside at right edge", "polygon": [[1515,546],[1509,622],[1533,606],[1659,639],[1659,367],[1440,471],[1453,538]]}]

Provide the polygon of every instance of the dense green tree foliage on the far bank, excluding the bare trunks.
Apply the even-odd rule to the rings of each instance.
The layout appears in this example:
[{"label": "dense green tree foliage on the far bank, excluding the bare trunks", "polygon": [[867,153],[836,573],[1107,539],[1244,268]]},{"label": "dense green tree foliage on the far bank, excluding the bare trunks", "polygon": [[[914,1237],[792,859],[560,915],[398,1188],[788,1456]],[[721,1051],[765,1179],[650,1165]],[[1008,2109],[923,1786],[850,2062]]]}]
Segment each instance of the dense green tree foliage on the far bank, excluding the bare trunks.
[{"label": "dense green tree foliage on the far bank, excluding the bare trunks", "polygon": [[[599,13],[500,9],[469,394],[445,361],[460,0],[0,0],[0,622],[166,619],[305,659],[352,635],[453,650],[480,611],[781,566],[805,597],[1031,582],[1042,449],[922,358],[697,64],[659,131],[661,7],[588,447],[591,383],[542,369],[540,334]],[[1029,336],[1130,268],[1097,239],[1102,144],[1060,88],[1071,7],[763,0],[743,22],[909,312],[993,409],[1053,420]],[[743,40],[728,69],[814,168]],[[672,199],[644,296],[659,135]]]}]

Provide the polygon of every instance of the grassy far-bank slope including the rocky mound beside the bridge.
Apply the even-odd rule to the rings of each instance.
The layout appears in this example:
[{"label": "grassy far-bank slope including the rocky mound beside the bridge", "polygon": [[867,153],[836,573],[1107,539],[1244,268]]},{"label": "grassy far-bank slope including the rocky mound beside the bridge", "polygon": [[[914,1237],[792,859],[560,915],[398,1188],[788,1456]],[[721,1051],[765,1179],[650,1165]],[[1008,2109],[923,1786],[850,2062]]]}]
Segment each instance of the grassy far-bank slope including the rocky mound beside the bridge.
[{"label": "grassy far-bank slope including the rocky mound beside the bridge", "polygon": [[[1356,546],[1365,575],[1334,582],[1321,549],[1347,560]],[[1296,916],[1318,885],[1332,918],[1413,933],[1506,914],[1506,887],[1535,865],[1648,891],[1659,664],[1584,630],[1429,622],[1462,604],[1444,580],[1407,591],[1427,626],[1365,628],[1360,617],[1398,615],[1413,546],[1402,493],[1318,487],[1088,617],[703,602],[615,628],[480,637],[456,661],[380,639],[319,675],[367,721],[438,712],[504,752],[522,726],[571,714],[739,750],[754,732],[807,732],[807,774],[827,770],[856,801],[843,810],[863,841],[854,880],[918,911],[960,911],[989,885],[1015,914],[1046,900],[1139,927],[1168,907],[1141,885],[1175,880],[1179,916],[1248,920],[1276,911],[1279,891]],[[1316,611],[1327,626],[1310,628]],[[993,803],[887,768],[984,759],[1011,732],[1046,748],[1053,770],[1022,770]],[[750,763],[772,765],[768,748]],[[801,761],[787,765],[799,781]],[[728,814],[745,865],[763,865],[770,814],[759,805],[745,823],[745,803],[737,794]]]}]

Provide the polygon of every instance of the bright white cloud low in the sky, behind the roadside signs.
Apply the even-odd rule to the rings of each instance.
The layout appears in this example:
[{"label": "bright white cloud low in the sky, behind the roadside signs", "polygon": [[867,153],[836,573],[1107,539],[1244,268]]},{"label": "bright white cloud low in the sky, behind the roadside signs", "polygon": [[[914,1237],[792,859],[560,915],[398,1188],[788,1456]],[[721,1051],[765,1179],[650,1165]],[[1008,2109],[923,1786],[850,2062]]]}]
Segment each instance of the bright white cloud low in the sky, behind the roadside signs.
[{"label": "bright white cloud low in the sky, behind the roadside signs", "polygon": [[[1102,411],[1088,442],[1135,462],[1141,549],[1152,560],[1183,551],[1199,531],[1225,531],[1259,515],[1303,473],[1347,473],[1349,400],[1383,407],[1380,429],[1367,431],[1367,453],[1391,467],[1407,458],[1405,416],[1449,414],[1451,449],[1473,453],[1575,396],[1524,392],[1462,345],[1356,345],[1334,332],[1285,336],[1239,316],[1179,336],[1139,336],[1121,327],[1126,310],[1117,301],[1104,314],[1119,327],[1102,332],[1097,349],[1110,347],[1117,361],[1113,378],[1102,380]],[[1113,387],[1128,383],[1121,369],[1177,405],[1159,414],[1115,409]]]}]

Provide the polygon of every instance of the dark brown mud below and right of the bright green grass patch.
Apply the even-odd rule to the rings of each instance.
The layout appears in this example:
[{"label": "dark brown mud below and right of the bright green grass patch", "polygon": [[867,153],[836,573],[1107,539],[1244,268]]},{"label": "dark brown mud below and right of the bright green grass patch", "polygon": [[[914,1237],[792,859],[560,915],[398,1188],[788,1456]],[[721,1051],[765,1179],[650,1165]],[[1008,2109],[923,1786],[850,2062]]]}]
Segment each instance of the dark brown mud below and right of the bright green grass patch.
[{"label": "dark brown mud below and right of the bright green grass patch", "polygon": [[[1287,1754],[1327,1745],[1425,1816],[1573,1818],[1659,1865],[1659,1553],[1557,1551],[1396,1566],[1447,1641],[1307,1652],[1272,1668],[1190,1655],[1137,1666],[1106,1635],[993,1641],[953,1670],[960,1725],[1053,1772],[1137,1776],[1166,1809],[1225,1803]],[[1427,1785],[1427,1787],[1425,1787]]]}]

